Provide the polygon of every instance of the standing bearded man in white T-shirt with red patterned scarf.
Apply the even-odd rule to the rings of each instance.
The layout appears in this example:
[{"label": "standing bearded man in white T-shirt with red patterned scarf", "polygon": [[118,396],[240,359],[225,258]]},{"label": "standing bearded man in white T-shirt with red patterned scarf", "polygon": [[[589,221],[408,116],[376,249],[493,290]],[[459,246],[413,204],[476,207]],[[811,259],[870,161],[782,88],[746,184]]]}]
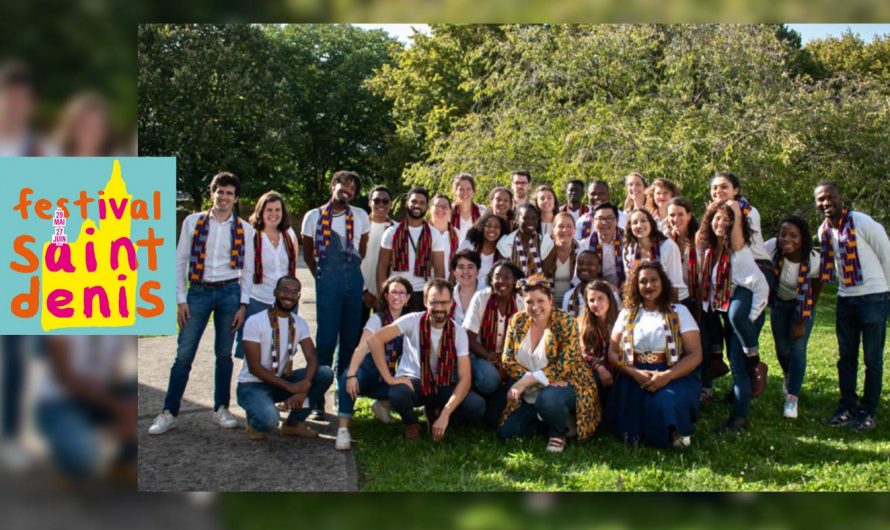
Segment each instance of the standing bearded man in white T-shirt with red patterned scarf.
[{"label": "standing bearded man in white T-shirt with red patterned scarf", "polygon": [[406,215],[398,225],[383,232],[380,257],[377,261],[377,292],[390,276],[402,276],[411,282],[414,294],[407,312],[423,311],[423,286],[431,277],[445,277],[445,245],[447,239],[424,221],[429,193],[411,188],[405,196]]}]

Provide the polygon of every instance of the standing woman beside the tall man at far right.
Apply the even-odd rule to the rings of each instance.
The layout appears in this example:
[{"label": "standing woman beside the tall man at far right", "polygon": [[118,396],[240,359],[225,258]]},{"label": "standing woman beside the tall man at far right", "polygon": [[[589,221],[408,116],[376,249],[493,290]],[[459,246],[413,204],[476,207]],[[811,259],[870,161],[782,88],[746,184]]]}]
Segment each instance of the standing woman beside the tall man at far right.
[{"label": "standing woman beside the tall man at far right", "polygon": [[796,215],[782,220],[778,234],[765,246],[778,276],[769,320],[785,376],[782,415],[793,419],[807,369],[807,342],[816,318],[816,302],[822,292],[820,257],[813,248],[809,225]]}]

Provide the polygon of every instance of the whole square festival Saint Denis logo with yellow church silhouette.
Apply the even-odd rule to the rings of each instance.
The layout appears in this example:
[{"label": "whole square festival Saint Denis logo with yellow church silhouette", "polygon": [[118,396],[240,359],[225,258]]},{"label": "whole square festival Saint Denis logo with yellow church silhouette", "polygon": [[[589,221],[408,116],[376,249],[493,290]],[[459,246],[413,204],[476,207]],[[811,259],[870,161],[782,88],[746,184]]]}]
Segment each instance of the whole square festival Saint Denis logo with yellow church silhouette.
[{"label": "whole square festival Saint Denis logo with yellow church silhouette", "polygon": [[2,158],[0,325],[175,332],[174,158]]}]

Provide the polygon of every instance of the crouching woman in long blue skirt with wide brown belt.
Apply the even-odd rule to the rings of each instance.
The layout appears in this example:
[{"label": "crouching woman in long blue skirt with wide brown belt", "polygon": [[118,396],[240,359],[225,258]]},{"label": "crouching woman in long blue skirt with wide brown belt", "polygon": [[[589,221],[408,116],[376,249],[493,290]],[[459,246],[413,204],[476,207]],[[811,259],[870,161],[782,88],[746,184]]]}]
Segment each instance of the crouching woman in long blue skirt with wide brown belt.
[{"label": "crouching woman in long blue skirt with wide brown belt", "polygon": [[682,304],[671,303],[671,283],[661,263],[643,261],[624,288],[609,345],[618,377],[609,395],[606,423],[627,443],[686,447],[698,419],[701,362],[698,325]]}]

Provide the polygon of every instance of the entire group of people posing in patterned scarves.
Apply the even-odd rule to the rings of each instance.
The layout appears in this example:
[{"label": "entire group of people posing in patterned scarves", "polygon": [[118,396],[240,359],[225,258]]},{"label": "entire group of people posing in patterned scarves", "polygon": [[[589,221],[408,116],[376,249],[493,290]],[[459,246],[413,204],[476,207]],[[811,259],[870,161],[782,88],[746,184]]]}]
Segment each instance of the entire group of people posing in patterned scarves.
[{"label": "entire group of people posing in patterned scarves", "polygon": [[[339,171],[330,200],[306,213],[297,239],[280,195],[266,193],[240,219],[238,178],[216,175],[212,208],[183,223],[178,350],[165,410],[149,432],[176,426],[212,313],[213,417],[238,426],[228,411],[237,342],[245,358],[237,398],[251,439],[278,428],[280,408],[290,411],[282,433],[317,436],[306,420],[323,417],[336,379],[340,450],[351,447],[359,397],[374,400],[381,421],[400,420],[412,440],[422,436],[422,407],[433,440],[452,420],[483,422],[504,438],[545,434],[547,451],[560,452],[568,438],[586,440],[602,424],[629,443],[684,447],[701,403],[727,373],[732,410],[724,429],[748,428],[751,401],[766,384],[759,338],[767,308],[784,376],[782,414],[797,417],[816,303],[835,278],[840,399],[828,421],[874,428],[890,241],[879,223],[844,204],[834,183],[814,190],[824,216],[815,245],[807,222],[793,215],[765,241],[758,210],[729,172],[710,179],[701,221],[665,178],[627,175],[621,207],[602,180],[569,181],[561,205],[552,187],[533,187],[527,171],[510,178],[484,205],[468,174],[454,178],[450,196],[411,188],[396,221],[389,189],[370,190],[369,215],[351,204],[358,175]],[[300,246],[315,280],[314,341],[297,314]],[[306,365],[295,370],[298,345]]]}]

